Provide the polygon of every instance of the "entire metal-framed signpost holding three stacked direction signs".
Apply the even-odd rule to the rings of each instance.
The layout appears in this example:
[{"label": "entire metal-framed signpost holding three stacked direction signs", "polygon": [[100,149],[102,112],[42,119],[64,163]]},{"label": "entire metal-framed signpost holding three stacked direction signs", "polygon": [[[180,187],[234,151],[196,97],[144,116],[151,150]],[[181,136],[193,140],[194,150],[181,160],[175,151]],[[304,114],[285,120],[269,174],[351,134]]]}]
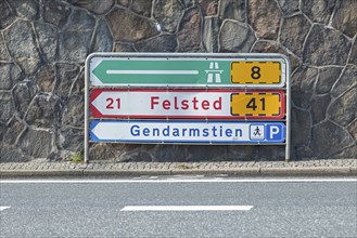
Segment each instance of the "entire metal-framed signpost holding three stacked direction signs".
[{"label": "entire metal-framed signpost holding three stacked direction signs", "polygon": [[290,93],[281,54],[94,53],[85,161],[103,142],[284,145],[289,160]]}]

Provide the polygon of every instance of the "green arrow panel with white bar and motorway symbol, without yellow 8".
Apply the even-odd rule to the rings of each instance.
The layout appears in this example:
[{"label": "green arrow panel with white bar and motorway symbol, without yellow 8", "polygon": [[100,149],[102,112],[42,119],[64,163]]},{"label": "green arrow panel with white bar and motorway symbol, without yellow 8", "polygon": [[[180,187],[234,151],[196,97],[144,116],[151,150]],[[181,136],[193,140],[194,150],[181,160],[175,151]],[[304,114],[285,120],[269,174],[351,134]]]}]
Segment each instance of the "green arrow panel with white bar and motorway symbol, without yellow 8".
[{"label": "green arrow panel with white bar and motorway symbol, without yellow 8", "polygon": [[[231,61],[102,60],[92,74],[102,84],[231,84]],[[93,83],[94,82],[94,83]],[[95,80],[92,80],[95,84]]]}]

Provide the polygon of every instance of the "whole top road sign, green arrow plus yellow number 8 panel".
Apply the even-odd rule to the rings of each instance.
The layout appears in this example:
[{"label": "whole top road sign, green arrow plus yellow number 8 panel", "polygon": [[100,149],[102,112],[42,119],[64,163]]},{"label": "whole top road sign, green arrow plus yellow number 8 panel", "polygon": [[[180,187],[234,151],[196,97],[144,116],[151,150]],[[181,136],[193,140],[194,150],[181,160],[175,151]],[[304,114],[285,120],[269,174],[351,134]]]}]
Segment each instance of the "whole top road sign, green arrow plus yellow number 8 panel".
[{"label": "whole top road sign, green arrow plus yellow number 8 panel", "polygon": [[[227,56],[227,55],[226,55]],[[286,60],[232,56],[113,56],[87,60],[92,85],[281,88],[286,81]]]}]

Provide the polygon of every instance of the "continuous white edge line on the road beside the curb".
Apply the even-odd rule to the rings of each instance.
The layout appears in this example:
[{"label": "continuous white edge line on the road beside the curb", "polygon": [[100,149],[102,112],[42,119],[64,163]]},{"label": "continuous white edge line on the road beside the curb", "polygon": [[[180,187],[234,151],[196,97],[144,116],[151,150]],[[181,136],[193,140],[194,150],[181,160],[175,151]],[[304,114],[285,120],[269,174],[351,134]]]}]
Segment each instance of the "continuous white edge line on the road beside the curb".
[{"label": "continuous white edge line on the road beside the curb", "polygon": [[0,184],[122,184],[122,183],[330,183],[357,178],[158,178],[158,180],[1,180]]}]

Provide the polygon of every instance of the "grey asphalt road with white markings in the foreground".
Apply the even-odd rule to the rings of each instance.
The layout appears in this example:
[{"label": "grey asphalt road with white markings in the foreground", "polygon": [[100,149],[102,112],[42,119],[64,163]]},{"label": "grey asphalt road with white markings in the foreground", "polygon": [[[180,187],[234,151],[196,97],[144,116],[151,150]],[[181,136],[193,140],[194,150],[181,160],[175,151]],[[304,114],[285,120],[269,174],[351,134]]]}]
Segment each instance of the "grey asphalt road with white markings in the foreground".
[{"label": "grey asphalt road with white markings in the foreground", "polygon": [[350,177],[0,185],[1,237],[357,237]]}]

